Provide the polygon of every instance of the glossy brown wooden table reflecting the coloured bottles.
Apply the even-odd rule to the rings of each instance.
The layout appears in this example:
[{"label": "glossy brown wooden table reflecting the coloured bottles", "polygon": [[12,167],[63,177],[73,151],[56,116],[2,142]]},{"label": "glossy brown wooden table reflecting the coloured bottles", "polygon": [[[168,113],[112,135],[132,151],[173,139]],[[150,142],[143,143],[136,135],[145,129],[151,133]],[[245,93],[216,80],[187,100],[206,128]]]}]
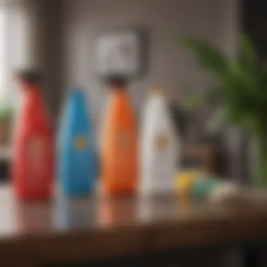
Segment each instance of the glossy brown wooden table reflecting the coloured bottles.
[{"label": "glossy brown wooden table reflecting the coloured bottles", "polygon": [[91,197],[19,204],[0,189],[0,266],[98,262],[267,236],[265,204],[180,203],[177,197]]}]

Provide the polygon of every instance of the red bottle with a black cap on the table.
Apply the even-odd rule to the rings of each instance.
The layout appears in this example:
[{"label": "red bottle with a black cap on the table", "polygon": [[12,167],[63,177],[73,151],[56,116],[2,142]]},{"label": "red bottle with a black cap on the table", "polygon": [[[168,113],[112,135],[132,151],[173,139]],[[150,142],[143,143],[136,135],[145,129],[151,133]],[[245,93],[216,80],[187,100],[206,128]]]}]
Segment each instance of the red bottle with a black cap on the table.
[{"label": "red bottle with a black cap on the table", "polygon": [[41,96],[41,74],[19,74],[24,99],[15,129],[13,186],[19,200],[47,200],[54,175],[54,139]]}]

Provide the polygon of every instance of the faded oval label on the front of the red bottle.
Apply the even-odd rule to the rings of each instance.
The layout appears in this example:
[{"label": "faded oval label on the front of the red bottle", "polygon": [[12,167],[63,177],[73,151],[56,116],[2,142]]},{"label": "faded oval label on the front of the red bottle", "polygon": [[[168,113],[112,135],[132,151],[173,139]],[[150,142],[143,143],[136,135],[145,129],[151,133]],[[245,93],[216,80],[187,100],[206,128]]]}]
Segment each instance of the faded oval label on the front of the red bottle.
[{"label": "faded oval label on the front of the red bottle", "polygon": [[27,145],[27,159],[28,159],[28,181],[32,189],[40,188],[44,179],[45,172],[45,150],[46,145],[43,138],[30,138]]}]

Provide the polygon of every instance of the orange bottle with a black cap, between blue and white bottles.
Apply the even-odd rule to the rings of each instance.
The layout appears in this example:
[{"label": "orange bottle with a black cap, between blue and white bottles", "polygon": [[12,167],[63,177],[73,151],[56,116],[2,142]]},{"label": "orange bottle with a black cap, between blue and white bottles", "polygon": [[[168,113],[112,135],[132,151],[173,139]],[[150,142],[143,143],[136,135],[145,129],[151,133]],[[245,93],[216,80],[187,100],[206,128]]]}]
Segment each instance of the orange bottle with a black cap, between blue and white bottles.
[{"label": "orange bottle with a black cap, between blue and white bottles", "polygon": [[110,107],[102,140],[102,188],[108,195],[134,193],[137,181],[138,131],[126,81],[110,79]]}]

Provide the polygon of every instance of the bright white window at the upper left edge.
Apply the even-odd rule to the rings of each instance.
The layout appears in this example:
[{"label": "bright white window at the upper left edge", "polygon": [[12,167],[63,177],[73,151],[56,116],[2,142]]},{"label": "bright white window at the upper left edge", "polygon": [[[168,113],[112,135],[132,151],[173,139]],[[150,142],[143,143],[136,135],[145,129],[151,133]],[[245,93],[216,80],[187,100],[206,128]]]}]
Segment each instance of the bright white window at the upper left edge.
[{"label": "bright white window at the upper left edge", "polygon": [[4,98],[16,105],[19,93],[13,72],[27,63],[27,16],[10,3],[0,1],[0,101]]}]

